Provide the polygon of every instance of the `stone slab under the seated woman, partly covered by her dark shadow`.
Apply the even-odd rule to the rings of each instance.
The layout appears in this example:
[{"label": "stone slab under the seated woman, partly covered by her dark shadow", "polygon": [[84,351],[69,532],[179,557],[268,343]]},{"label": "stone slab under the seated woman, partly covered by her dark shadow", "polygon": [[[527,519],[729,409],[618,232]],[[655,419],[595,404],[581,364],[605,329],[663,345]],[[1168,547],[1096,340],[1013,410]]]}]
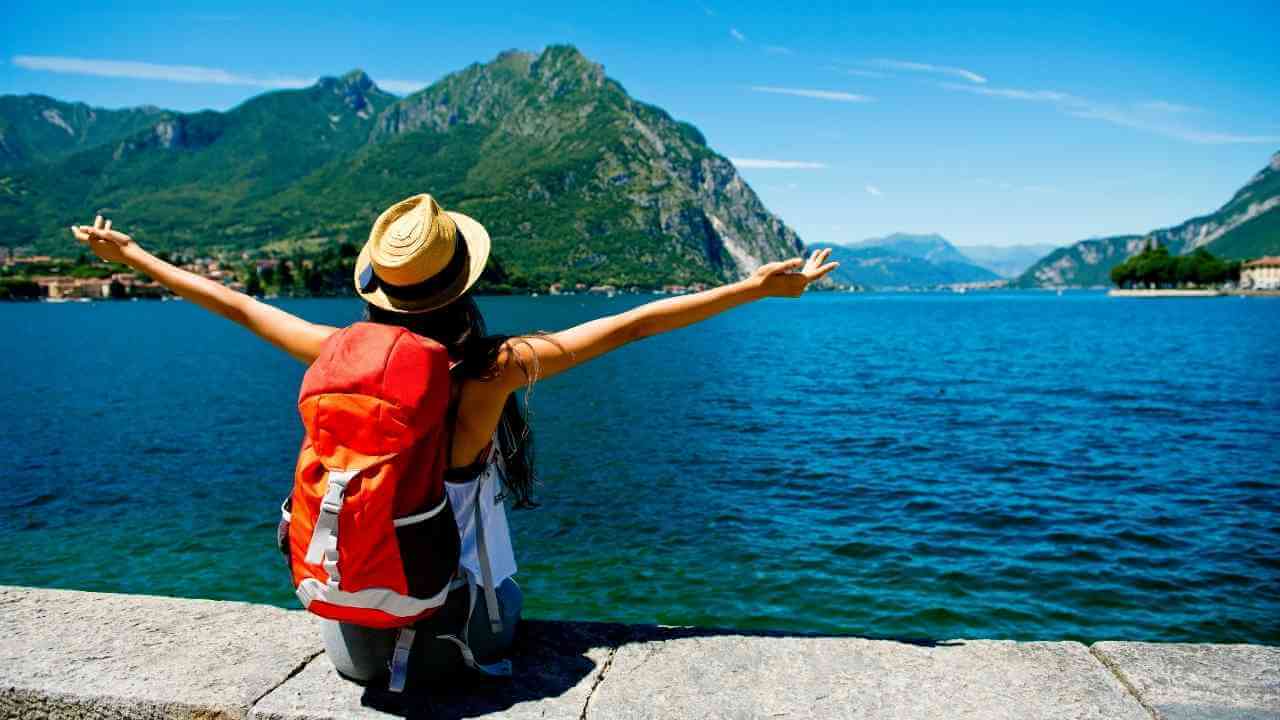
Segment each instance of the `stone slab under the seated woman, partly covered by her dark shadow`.
[{"label": "stone slab under the seated woman, partly covered by her dark shadow", "polygon": [[412,717],[579,717],[612,652],[628,635],[623,625],[596,623],[521,624],[511,680],[392,696],[349,683],[326,656],[253,706],[255,720],[374,719],[385,712]]}]

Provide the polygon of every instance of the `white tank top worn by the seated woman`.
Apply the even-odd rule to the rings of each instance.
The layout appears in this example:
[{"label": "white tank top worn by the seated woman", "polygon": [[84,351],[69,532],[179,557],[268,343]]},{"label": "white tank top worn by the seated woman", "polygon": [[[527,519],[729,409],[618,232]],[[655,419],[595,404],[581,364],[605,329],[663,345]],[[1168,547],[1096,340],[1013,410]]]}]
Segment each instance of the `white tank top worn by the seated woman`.
[{"label": "white tank top worn by the seated woman", "polygon": [[472,578],[480,578],[480,555],[476,542],[476,484],[480,488],[480,516],[484,519],[484,544],[488,550],[489,568],[493,573],[493,584],[497,587],[503,580],[516,574],[516,553],[511,547],[511,530],[507,527],[507,510],[503,505],[506,492],[502,487],[502,475],[506,474],[506,465],[502,461],[502,452],[498,451],[498,438],[494,437],[493,448],[489,451],[489,460],[480,477],[465,483],[444,483],[445,492],[449,493],[449,505],[453,506],[453,519],[458,523],[458,534],[462,538],[462,559],[460,565],[466,569]]}]

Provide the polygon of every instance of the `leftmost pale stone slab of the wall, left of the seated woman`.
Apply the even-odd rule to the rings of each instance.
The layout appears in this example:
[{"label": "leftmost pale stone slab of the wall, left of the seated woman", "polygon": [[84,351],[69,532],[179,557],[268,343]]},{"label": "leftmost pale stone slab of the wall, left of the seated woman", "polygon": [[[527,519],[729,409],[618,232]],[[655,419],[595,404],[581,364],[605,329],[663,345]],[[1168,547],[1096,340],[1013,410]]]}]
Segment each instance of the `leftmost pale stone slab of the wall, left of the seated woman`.
[{"label": "leftmost pale stone slab of the wall, left of the seated woman", "polygon": [[0,717],[244,717],[320,650],[278,607],[0,587]]}]

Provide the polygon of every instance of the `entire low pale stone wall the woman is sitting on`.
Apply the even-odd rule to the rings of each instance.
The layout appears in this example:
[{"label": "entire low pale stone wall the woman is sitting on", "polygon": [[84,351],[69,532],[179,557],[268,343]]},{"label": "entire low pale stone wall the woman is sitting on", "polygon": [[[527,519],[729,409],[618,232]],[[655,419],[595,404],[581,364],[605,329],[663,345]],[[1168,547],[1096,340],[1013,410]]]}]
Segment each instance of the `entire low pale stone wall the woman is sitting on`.
[{"label": "entire low pale stone wall the woman is sitting on", "polygon": [[0,585],[0,719],[1280,719],[1280,648],[526,621],[511,682],[340,679],[301,611]]}]

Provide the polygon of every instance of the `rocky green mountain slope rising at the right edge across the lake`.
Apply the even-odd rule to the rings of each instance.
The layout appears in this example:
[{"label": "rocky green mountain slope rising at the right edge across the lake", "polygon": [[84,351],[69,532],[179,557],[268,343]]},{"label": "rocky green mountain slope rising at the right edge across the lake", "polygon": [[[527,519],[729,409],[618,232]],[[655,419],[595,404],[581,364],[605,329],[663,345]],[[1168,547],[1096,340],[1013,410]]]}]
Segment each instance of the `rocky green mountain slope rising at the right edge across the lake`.
[{"label": "rocky green mountain slope rising at the right edge across the lake", "polygon": [[1142,236],[1092,238],[1055,250],[1019,275],[1014,286],[1107,286],[1111,268],[1152,241],[1175,255],[1198,247],[1230,259],[1280,254],[1280,152],[1216,211]]}]

